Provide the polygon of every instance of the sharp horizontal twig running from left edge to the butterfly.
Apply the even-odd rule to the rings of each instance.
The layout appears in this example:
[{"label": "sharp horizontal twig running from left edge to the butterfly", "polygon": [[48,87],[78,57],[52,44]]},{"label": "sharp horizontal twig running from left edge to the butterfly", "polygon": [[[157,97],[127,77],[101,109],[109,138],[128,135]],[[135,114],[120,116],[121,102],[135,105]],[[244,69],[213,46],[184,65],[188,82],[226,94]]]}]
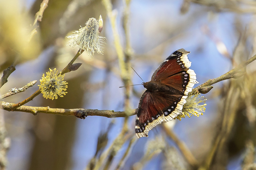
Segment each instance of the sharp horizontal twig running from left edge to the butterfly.
[{"label": "sharp horizontal twig running from left edge to the butterfly", "polygon": [[[0,107],[3,110],[7,111],[21,111],[32,113],[36,115],[37,113],[48,113],[54,115],[62,115],[62,116],[76,116],[79,118],[85,118],[87,116],[103,116],[108,118],[114,117],[126,117],[124,111],[114,111],[114,110],[97,110],[97,109],[59,109],[59,108],[50,108],[50,107],[33,107],[33,106],[20,106],[15,110],[12,110],[12,105],[15,103],[7,103],[4,101],[0,101]],[[137,109],[133,110],[131,115],[136,114]]]}]

